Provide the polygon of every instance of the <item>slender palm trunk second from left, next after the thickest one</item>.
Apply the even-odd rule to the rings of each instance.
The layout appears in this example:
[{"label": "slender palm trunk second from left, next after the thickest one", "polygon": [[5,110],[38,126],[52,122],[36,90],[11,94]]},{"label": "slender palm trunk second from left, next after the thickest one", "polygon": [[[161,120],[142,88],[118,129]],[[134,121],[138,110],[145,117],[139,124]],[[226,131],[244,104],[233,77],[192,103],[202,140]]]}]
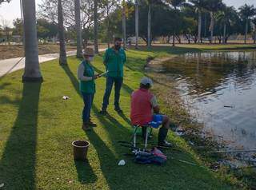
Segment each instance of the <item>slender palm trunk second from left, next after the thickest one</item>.
[{"label": "slender palm trunk second from left, next after the thickest one", "polygon": [[62,0],[58,0],[58,38],[59,38],[59,48],[60,48],[59,49],[59,65],[67,65]]}]

